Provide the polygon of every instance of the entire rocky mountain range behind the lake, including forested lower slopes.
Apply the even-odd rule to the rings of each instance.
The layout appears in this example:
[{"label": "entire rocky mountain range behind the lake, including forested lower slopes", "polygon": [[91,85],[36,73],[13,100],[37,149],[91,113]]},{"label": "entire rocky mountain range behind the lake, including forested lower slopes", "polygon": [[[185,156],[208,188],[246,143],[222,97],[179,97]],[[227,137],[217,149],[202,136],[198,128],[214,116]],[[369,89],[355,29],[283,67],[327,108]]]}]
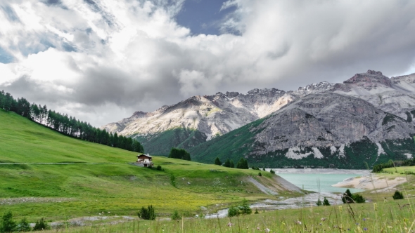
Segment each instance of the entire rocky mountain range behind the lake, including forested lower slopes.
[{"label": "entire rocky mountain range behind the lake, including forested lower slopes", "polygon": [[101,128],[136,138],[152,154],[183,147],[208,163],[245,157],[262,166],[362,168],[413,157],[414,117],[415,74],[368,70],[297,91],[193,96]]}]

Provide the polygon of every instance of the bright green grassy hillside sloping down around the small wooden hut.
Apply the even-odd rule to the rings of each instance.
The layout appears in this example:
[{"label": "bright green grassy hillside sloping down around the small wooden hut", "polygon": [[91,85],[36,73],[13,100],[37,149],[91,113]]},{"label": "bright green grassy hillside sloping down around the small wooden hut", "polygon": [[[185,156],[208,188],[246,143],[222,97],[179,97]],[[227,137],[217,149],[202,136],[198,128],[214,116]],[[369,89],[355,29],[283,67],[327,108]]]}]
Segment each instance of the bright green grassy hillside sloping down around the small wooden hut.
[{"label": "bright green grassy hillside sloping down around the small wooden hut", "polygon": [[[160,214],[198,213],[225,208],[243,198],[274,198],[248,177],[277,185],[270,173],[155,157],[163,171],[132,166],[136,153],[69,138],[12,112],[0,110],[0,215],[135,215],[153,204]],[[4,164],[4,163],[29,164]],[[36,164],[75,162],[75,164]],[[96,163],[96,164],[91,164]],[[291,195],[280,189],[281,195]]]}]

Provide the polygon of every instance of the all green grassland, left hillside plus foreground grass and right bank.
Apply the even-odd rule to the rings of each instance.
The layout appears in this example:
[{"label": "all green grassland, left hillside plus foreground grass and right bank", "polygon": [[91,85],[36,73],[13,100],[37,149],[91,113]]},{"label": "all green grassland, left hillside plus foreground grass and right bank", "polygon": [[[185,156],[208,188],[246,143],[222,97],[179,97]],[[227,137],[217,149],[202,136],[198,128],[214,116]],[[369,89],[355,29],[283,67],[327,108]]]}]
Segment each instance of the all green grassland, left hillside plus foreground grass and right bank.
[{"label": "all green grassland, left hillside plus foreground grass and right bank", "polygon": [[[162,166],[158,171],[129,164],[135,156],[69,138],[0,109],[0,215],[11,211],[17,221],[44,217],[49,223],[58,222],[45,232],[415,231],[415,176],[405,174],[414,167],[397,172],[387,168],[378,174],[407,178],[397,186],[403,200],[393,200],[393,190],[366,191],[362,192],[369,201],[365,204],[304,204],[300,209],[205,219],[194,216],[216,213],[243,199],[253,203],[298,197],[301,203],[302,198],[280,187],[271,173],[262,171],[259,176],[259,171],[153,157],[155,166]],[[264,194],[248,178],[272,187],[279,197]],[[155,207],[157,220],[137,218],[139,208],[148,205]],[[181,220],[168,220],[174,211]]]}]

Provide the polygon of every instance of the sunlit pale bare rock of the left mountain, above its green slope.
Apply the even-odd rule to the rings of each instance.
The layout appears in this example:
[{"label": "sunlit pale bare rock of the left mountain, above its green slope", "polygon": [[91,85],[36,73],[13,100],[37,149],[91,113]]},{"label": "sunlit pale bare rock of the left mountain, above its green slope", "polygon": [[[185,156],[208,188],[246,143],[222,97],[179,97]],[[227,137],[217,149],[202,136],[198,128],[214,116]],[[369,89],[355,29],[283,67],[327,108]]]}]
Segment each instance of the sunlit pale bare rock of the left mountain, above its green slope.
[{"label": "sunlit pale bare rock of the left mountain, above its green slope", "polygon": [[228,133],[293,100],[293,96],[275,88],[193,96],[155,112],[135,112],[131,117],[101,126],[120,135],[151,135],[172,128],[191,128],[205,133],[208,140]]}]

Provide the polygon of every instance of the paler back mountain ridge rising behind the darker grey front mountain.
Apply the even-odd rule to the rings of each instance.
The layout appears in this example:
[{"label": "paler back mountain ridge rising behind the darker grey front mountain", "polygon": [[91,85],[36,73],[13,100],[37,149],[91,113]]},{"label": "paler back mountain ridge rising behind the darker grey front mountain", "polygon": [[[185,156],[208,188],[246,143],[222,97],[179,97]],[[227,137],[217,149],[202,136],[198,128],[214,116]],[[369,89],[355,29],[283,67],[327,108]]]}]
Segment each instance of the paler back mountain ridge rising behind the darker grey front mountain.
[{"label": "paler back mountain ridge rising behind the darker grey front mountain", "polygon": [[[226,92],[193,96],[176,105],[161,107],[155,112],[136,112],[127,119],[101,128],[136,138],[143,143],[147,152],[168,154],[171,147],[190,149],[272,114],[289,102],[301,98],[308,101],[308,95],[317,93],[349,95],[409,122],[415,118],[415,74],[389,79],[381,72],[368,70],[366,73],[355,74],[343,84],[323,81],[300,87],[297,91],[286,92],[272,88],[253,89],[246,94]],[[330,111],[331,109],[326,109],[326,114],[329,115]],[[348,117],[355,119],[352,115]],[[338,122],[333,121],[331,124],[336,125]]]}]

